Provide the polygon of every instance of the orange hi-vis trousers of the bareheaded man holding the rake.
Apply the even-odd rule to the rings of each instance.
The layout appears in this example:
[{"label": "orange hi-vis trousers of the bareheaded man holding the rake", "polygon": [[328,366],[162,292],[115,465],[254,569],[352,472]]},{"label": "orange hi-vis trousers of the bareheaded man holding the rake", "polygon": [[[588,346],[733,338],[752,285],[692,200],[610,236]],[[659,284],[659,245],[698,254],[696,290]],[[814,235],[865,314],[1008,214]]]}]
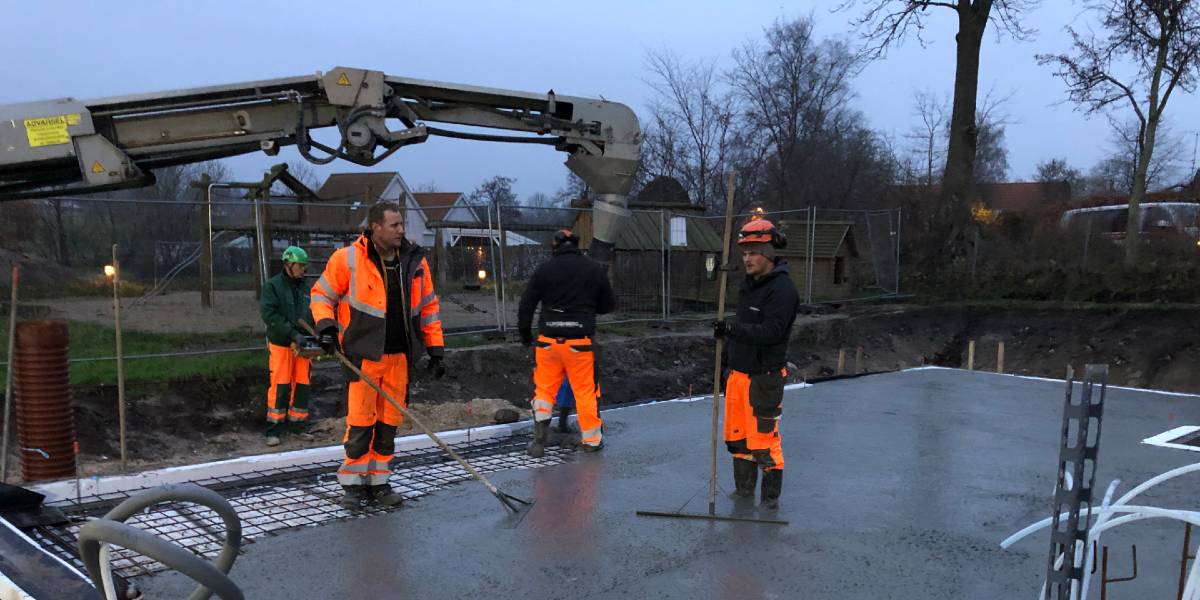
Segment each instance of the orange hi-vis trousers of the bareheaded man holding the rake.
[{"label": "orange hi-vis trousers of the bareheaded man holding the rake", "polygon": [[[384,354],[378,361],[362,360],[362,373],[379,384],[400,406],[408,408],[408,356]],[[337,469],[343,486],[384,485],[391,476],[396,452],[396,428],[404,415],[362,379],[350,382],[346,408],[346,460]]]}]

